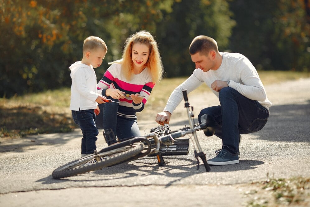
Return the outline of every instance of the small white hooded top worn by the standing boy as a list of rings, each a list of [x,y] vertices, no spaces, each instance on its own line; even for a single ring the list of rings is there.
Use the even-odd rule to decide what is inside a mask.
[[[71,70],[71,101],[70,110],[87,110],[97,108],[97,78],[92,66],[81,61],[73,63]]]

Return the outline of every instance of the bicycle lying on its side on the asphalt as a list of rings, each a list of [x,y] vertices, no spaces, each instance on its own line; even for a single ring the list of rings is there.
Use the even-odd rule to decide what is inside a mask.
[[[179,137],[191,134],[194,137],[195,149],[194,154],[197,159],[197,168],[199,169],[199,159],[203,161],[204,167],[207,172],[210,167],[206,161],[206,156],[201,150],[196,131],[203,130],[206,136],[214,134],[213,123],[214,120],[207,114],[201,117],[201,124],[194,124],[193,107],[188,102],[187,91],[183,91],[184,107],[187,110],[188,120],[190,126],[185,126],[176,131],[171,131],[168,124],[151,129],[151,133],[141,137],[130,137],[126,140],[121,140],[116,143],[101,149],[99,152],[95,151],[93,154],[82,157],[75,161],[69,162],[59,168],[55,169],[52,173],[53,178],[60,179],[69,176],[76,176],[78,174],[86,173],[102,169],[104,167],[114,166],[126,161],[131,161],[146,155],[155,154],[159,165],[164,165],[165,162],[161,153],[159,152],[161,146],[171,146],[177,141]],[[115,135],[111,129],[105,130],[104,135],[106,138],[114,138]],[[194,147],[195,147],[194,145]]]

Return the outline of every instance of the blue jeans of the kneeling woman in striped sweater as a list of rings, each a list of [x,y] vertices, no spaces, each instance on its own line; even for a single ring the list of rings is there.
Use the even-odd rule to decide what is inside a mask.
[[[117,99],[109,99],[118,101]],[[115,102],[99,104],[100,113],[96,117],[96,126],[99,129],[112,129],[117,138],[141,136],[137,120],[118,116],[119,104]]]

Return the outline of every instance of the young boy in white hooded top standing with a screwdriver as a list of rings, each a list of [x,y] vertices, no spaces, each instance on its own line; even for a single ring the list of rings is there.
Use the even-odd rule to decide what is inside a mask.
[[[72,118],[82,130],[81,156],[94,153],[98,129],[95,124],[99,114],[97,103],[105,103],[106,97],[97,94],[97,79],[94,68],[101,65],[108,48],[99,37],[90,36],[84,40],[82,61],[73,63],[71,70]],[[97,102],[97,103],[96,103]]]

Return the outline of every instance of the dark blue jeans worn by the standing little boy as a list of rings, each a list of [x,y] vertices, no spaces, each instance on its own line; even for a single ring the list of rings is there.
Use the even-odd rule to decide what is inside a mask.
[[[98,129],[96,127],[96,115],[94,109],[72,111],[74,123],[82,130],[81,154],[92,154],[96,150]]]

